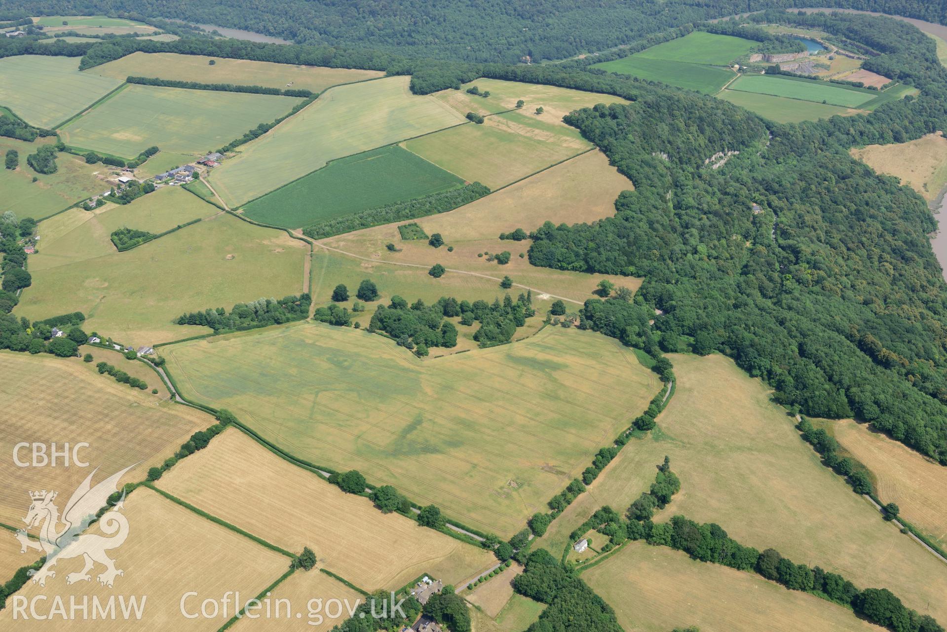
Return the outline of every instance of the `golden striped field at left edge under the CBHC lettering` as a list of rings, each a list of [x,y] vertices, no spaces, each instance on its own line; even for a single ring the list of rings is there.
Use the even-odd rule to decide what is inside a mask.
[[[93,350],[94,355],[99,351]],[[117,360],[104,356],[102,360],[124,368]],[[0,352],[0,374],[4,375],[0,408],[5,413],[0,449],[7,455],[0,462],[4,483],[0,485],[0,522],[9,525],[22,524],[30,490],[55,489],[68,500],[96,467],[99,477],[111,476],[138,462],[125,482],[140,481],[150,466],[168,458],[193,432],[214,423],[210,415],[100,376],[79,359],[4,351]],[[158,382],[153,373],[149,385],[152,382]],[[88,443],[79,456],[89,466],[64,467],[60,460],[57,467],[17,467],[11,455],[21,442],[45,443],[47,450],[51,442],[60,450],[66,442],[72,446]],[[29,450],[21,449],[21,461],[29,458]]]

